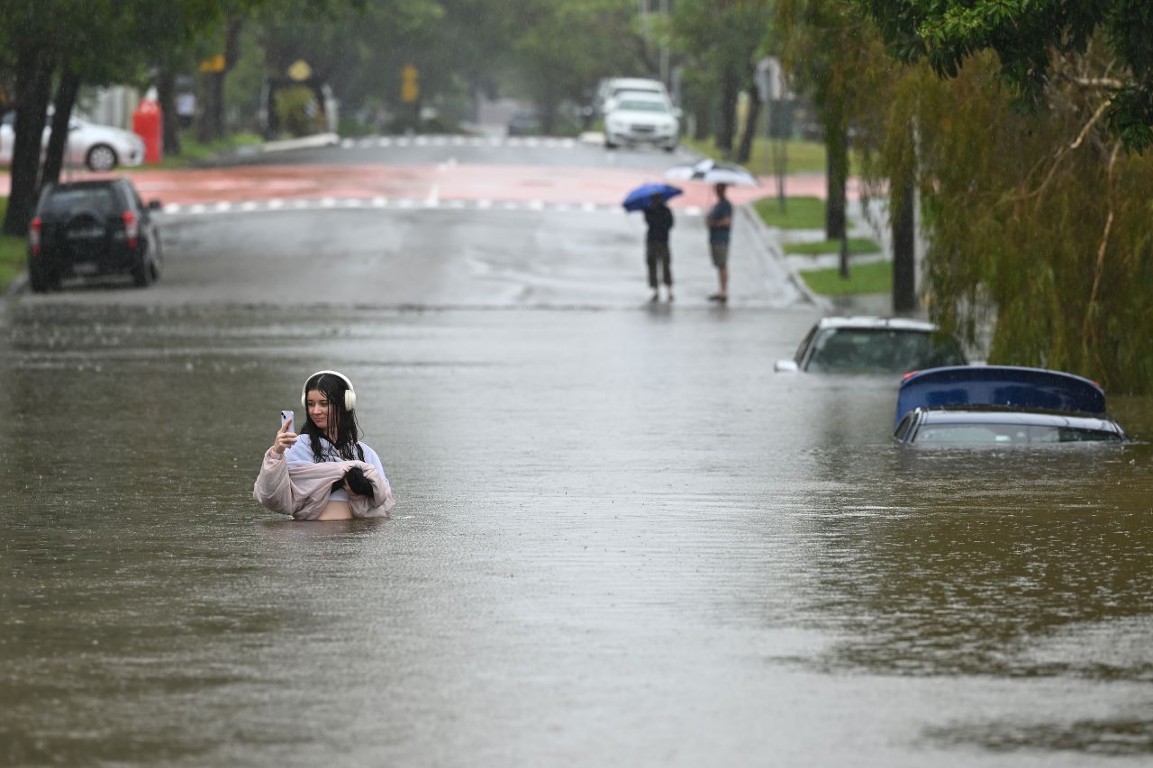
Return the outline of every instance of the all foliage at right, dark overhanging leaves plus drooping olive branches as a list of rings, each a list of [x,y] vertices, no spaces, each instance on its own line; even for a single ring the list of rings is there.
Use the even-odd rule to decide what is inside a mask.
[[[915,179],[930,317],[990,362],[1153,391],[1153,158],[1124,151],[1141,128],[1117,98],[1144,88],[1133,62],[1151,54],[1116,27],[1147,31],[1148,3],[822,2],[857,36],[867,189],[896,205],[894,180]]]

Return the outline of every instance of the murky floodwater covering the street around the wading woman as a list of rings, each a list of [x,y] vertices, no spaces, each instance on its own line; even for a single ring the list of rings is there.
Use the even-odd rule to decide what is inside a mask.
[[[0,311],[8,763],[1153,753],[1145,443],[898,449],[786,314]],[[251,502],[330,367],[390,520]]]

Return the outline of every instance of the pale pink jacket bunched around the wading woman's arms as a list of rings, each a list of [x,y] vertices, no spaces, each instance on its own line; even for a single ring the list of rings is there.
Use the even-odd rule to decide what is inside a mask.
[[[253,485],[253,498],[273,512],[292,515],[296,520],[316,520],[329,503],[332,483],[353,467],[361,472],[376,491],[372,498],[349,494],[354,518],[386,518],[397,505],[389,481],[371,464],[364,461],[322,461],[288,468],[284,454],[269,449],[264,453],[261,474]]]

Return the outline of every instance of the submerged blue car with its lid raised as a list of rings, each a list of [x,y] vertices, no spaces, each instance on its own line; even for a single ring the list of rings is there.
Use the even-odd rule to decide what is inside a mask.
[[[905,376],[894,437],[909,445],[1010,446],[1128,442],[1105,390],[1043,368],[952,366]]]

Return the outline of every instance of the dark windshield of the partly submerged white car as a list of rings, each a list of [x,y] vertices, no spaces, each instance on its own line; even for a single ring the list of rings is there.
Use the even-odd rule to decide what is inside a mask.
[[[964,364],[955,341],[928,331],[830,327],[816,338],[808,370],[903,374]]]

